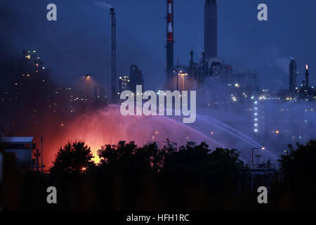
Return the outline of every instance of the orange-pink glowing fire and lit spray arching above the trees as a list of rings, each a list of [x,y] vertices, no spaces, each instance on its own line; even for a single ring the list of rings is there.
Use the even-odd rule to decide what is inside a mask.
[[[182,123],[165,117],[124,117],[116,106],[73,117],[71,121],[67,121],[67,126],[65,124],[58,131],[48,130],[44,134],[46,167],[51,166],[58,149],[65,146],[67,141],[84,141],[91,148],[93,161],[98,163],[100,147],[116,145],[119,141],[135,141],[138,146],[144,146],[147,141],[154,140],[159,141],[163,147],[166,137],[178,143],[178,146],[186,144],[187,136],[197,143],[205,139]],[[179,130],[181,131],[178,132]]]

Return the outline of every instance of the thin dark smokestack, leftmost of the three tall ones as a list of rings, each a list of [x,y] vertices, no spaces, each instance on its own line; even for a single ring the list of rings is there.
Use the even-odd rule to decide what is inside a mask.
[[[112,18],[112,69],[111,69],[111,94],[112,103],[117,101],[117,34],[114,8],[110,8]]]

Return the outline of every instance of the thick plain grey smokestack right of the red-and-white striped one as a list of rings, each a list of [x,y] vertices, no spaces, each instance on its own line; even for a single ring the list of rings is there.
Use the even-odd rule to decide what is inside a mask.
[[[206,60],[217,57],[216,0],[206,0],[204,5],[204,51]]]

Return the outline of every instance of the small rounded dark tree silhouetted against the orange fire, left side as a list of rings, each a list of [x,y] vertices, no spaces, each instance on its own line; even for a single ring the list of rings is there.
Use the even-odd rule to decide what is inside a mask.
[[[95,166],[90,147],[84,141],[68,142],[58,150],[51,173],[84,173],[90,167]]]

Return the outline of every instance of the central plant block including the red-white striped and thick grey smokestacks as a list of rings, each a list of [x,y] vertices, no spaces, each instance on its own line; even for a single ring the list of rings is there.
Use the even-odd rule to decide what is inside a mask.
[[[240,86],[240,91],[254,94],[260,89],[259,74],[256,71],[233,73],[232,65],[218,58],[218,19],[216,0],[205,0],[204,3],[204,51],[198,62],[194,61],[194,52],[190,52],[189,65],[173,65],[173,1],[167,0],[166,31],[166,89],[199,89],[206,80],[213,85]],[[172,72],[171,72],[172,70]],[[181,84],[184,82],[184,84]],[[210,84],[209,82],[208,85]]]

